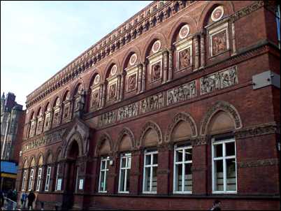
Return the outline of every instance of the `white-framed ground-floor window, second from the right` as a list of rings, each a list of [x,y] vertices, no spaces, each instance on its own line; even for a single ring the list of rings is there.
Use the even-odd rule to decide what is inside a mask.
[[[174,150],[173,192],[175,194],[192,193],[192,146],[175,145]]]

